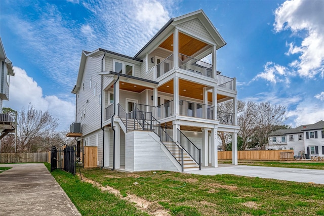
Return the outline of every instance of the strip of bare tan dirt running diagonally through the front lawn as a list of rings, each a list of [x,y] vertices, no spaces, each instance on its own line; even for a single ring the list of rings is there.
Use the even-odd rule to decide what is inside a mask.
[[[109,178],[109,177],[108,177]],[[167,216],[170,215],[170,212],[167,211],[163,206],[158,204],[157,202],[150,202],[146,199],[140,198],[136,195],[127,194],[126,197],[123,197],[120,192],[110,186],[102,186],[98,182],[95,182],[91,179],[87,179],[86,177],[82,177],[82,181],[88,182],[96,187],[98,187],[101,191],[107,191],[108,193],[114,194],[120,199],[126,200],[128,202],[135,203],[135,207],[138,209],[154,216]]]

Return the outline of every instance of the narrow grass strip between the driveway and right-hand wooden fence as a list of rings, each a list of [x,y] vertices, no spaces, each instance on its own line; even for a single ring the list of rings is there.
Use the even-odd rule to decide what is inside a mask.
[[[220,160],[219,163],[232,163],[231,160]],[[304,169],[324,169],[323,162],[313,161],[258,161],[258,160],[238,160],[240,165],[251,166],[273,166],[273,167],[285,167],[285,168],[304,168]]]

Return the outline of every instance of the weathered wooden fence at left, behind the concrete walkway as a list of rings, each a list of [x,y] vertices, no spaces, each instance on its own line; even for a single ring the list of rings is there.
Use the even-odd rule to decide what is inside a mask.
[[[29,163],[29,162],[47,162],[47,161],[48,161],[47,152],[1,153],[0,154],[0,163]]]

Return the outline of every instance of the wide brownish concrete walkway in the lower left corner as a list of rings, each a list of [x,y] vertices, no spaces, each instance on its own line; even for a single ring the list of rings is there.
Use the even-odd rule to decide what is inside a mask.
[[[43,163],[0,166],[0,215],[81,215]]]

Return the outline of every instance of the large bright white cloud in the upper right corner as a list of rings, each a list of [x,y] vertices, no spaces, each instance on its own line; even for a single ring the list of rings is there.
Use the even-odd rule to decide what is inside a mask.
[[[291,30],[303,38],[300,45],[289,43],[287,55],[297,54],[298,60],[290,66],[297,69],[300,76],[324,77],[324,1],[286,1],[274,12],[274,29],[279,32]],[[298,33],[306,32],[306,36]]]

